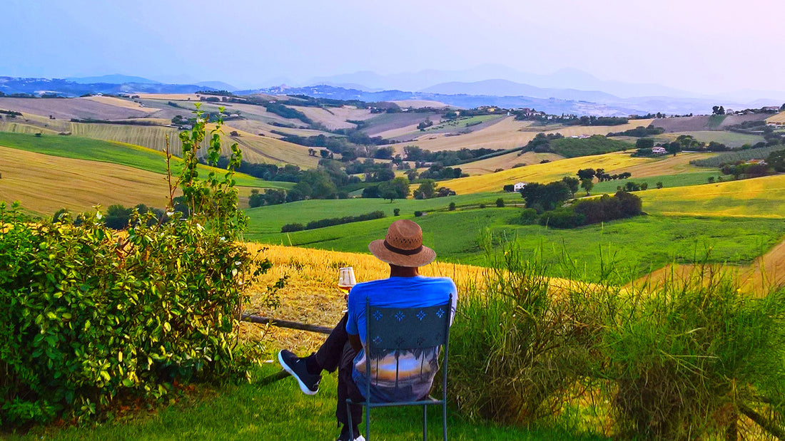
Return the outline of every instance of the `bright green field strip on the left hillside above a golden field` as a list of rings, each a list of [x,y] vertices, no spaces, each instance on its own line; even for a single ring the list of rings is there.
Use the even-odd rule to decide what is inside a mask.
[[[114,143],[98,139],[79,138],[76,136],[45,135],[40,138],[26,133],[0,132],[0,146],[25,150],[38,154],[48,154],[87,161],[109,162],[139,168],[148,172],[166,174],[166,157],[162,152],[142,146],[125,143]],[[180,160],[173,158],[173,172],[179,173]],[[200,167],[204,175],[218,168]],[[225,172],[225,170],[223,171]],[[273,183],[250,175],[237,174],[238,186],[287,189],[294,183]]]

